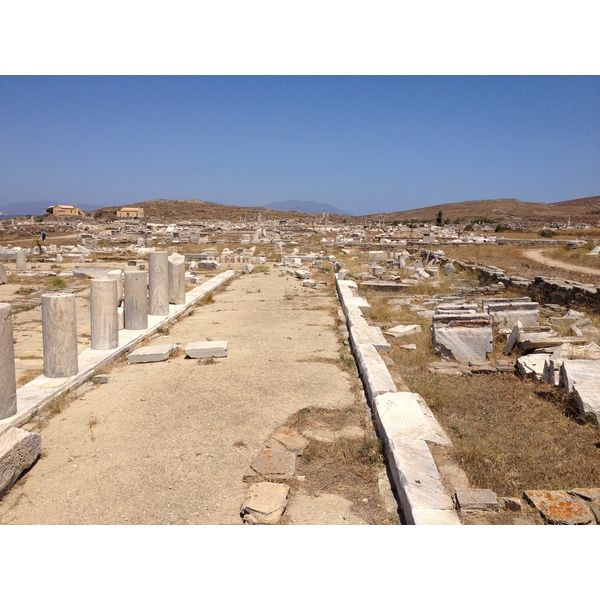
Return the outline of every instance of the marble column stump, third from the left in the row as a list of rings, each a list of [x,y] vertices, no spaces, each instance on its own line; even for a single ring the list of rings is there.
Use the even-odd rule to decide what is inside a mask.
[[[112,350],[119,345],[118,285],[113,277],[90,282],[90,322],[93,350]]]

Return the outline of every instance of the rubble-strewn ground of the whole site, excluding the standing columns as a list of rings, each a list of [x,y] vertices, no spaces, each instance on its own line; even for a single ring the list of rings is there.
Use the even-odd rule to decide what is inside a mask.
[[[44,223],[42,245],[39,224],[9,221],[0,523],[600,522],[600,259],[585,231],[542,244],[171,215]],[[119,339],[82,368],[92,282],[149,274],[152,311],[158,255],[183,257],[185,299],[132,331],[119,288]],[[42,296],[57,293],[75,305],[67,376],[44,357]],[[139,490],[146,506],[129,501]]]

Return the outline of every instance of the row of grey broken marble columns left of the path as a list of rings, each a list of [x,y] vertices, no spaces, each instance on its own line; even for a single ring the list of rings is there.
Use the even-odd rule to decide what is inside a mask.
[[[169,304],[185,303],[185,257],[148,255],[148,273],[123,273],[123,317],[128,330],[148,328],[148,315],[166,316]],[[93,350],[119,345],[120,273],[90,282],[90,333]],[[44,375],[72,377],[79,372],[75,296],[42,294]],[[0,419],[17,412],[11,305],[0,304]]]

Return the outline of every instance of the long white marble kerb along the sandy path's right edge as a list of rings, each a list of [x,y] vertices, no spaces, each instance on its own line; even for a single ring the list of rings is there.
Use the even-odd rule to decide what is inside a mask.
[[[364,327],[368,327],[361,307],[368,306],[368,303],[354,296],[356,283],[336,276],[336,289],[406,522],[415,525],[460,525],[452,497],[444,488],[427,446],[428,441],[449,445],[450,440],[425,402],[420,396],[417,398],[418,394],[397,391],[372,341],[359,341],[365,335]],[[353,335],[354,329],[358,331]]]

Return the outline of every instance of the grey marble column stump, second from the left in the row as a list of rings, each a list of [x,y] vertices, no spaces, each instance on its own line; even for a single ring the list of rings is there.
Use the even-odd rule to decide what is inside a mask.
[[[77,375],[77,318],[73,294],[42,294],[42,338],[44,375]]]

